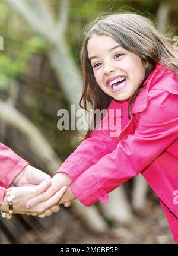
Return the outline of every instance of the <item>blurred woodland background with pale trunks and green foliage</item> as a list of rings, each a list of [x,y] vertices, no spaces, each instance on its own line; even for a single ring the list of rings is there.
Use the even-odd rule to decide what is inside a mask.
[[[84,27],[103,12],[131,8],[162,33],[178,34],[176,0],[1,0],[0,141],[50,175],[78,146],[59,131],[59,109],[78,106]],[[126,8],[128,7],[128,8]],[[0,219],[0,244],[174,244],[157,196],[141,175],[109,194],[109,204],[75,200],[45,219]]]

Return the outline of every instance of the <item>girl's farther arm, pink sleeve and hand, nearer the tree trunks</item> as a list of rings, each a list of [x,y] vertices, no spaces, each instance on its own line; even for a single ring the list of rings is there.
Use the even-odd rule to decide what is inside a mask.
[[[118,134],[120,132],[116,124],[119,128],[120,126],[123,128],[128,122],[127,116],[122,118],[122,123],[120,117],[123,114],[123,108],[127,109],[128,104],[129,102],[120,104],[115,102],[115,100],[110,103],[107,108],[109,115],[106,115],[101,121],[101,129],[93,131],[89,138],[82,141],[74,153],[63,162],[59,170],[55,173],[55,176],[51,179],[52,186],[48,191],[28,201],[27,207],[30,208],[42,201],[49,200],[51,195],[55,194],[59,188],[65,185],[69,186],[85,170],[116,148],[119,141]],[[115,110],[115,115],[113,115],[113,112],[110,112],[110,109]],[[74,199],[74,195],[71,195],[71,198]]]

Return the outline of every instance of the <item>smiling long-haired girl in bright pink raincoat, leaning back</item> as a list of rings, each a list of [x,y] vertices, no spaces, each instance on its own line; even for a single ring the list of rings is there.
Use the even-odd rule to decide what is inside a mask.
[[[92,109],[120,109],[121,131],[88,129],[82,143],[52,178],[52,187],[29,201],[48,200],[63,185],[60,203],[107,203],[108,193],[141,173],[157,194],[178,242],[178,56],[147,18],[131,13],[95,21],[81,50],[84,89]],[[101,127],[110,116],[105,116]],[[139,200],[139,198],[138,198]],[[117,202],[116,202],[117,203]]]

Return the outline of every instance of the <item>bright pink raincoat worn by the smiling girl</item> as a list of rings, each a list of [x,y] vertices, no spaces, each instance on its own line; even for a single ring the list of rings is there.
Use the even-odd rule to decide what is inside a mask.
[[[108,193],[141,173],[157,194],[178,242],[178,81],[170,69],[157,64],[148,75],[132,106],[112,100],[109,109],[120,109],[121,131],[97,129],[63,162],[57,172],[67,173],[75,197],[91,206],[107,203]]]

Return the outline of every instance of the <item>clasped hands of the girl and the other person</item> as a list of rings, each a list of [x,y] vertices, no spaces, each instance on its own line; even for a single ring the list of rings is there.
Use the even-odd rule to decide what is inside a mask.
[[[71,178],[62,172],[56,173],[51,178],[41,170],[27,165],[14,179],[13,184],[7,192],[15,195],[14,213],[18,214],[50,216],[60,210],[59,204],[68,207],[75,199],[68,187],[71,184]],[[6,198],[0,208],[8,212]]]

